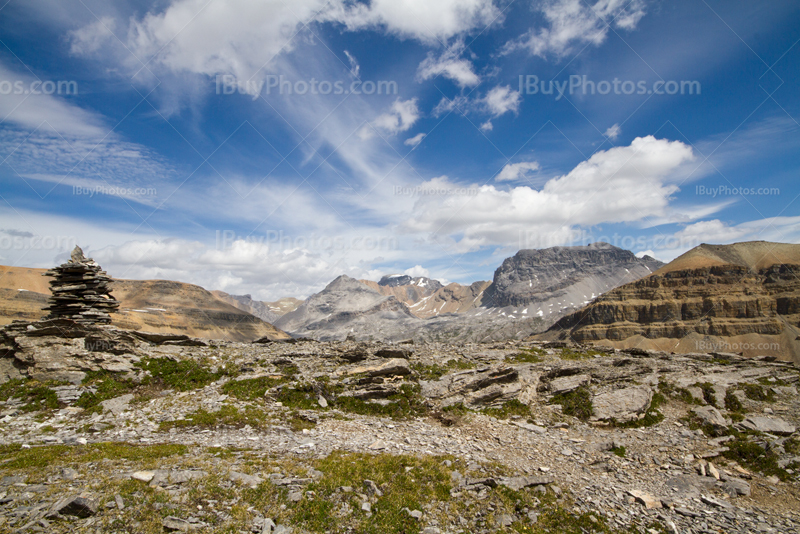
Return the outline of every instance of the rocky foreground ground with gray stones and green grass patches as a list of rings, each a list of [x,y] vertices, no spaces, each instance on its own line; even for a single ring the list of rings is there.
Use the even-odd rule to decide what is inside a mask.
[[[0,532],[800,531],[791,364],[31,326]]]

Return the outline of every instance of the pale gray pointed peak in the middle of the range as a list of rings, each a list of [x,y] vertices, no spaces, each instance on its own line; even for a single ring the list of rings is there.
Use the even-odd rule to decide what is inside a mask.
[[[358,330],[361,336],[382,337],[384,330],[402,330],[416,319],[394,296],[386,296],[354,278],[342,275],[310,296],[275,325],[287,332],[315,339],[343,339]]]

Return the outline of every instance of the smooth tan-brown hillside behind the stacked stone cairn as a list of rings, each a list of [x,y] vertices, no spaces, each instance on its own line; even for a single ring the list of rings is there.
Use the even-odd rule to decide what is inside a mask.
[[[0,268],[0,324],[35,320],[50,296],[45,269]],[[120,301],[112,324],[131,330],[185,334],[206,339],[252,341],[289,337],[271,324],[227,304],[200,286],[167,280],[114,280]]]

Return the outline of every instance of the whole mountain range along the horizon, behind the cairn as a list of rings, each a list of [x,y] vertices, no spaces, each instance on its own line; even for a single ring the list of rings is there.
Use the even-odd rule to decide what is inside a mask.
[[[800,362],[800,245],[700,245],[667,265],[607,243],[520,250],[491,281],[339,276],[275,302],[163,280],[115,280],[114,324],[205,338],[574,341]],[[0,324],[43,316],[44,269],[0,267]],[[273,326],[274,325],[274,326]]]

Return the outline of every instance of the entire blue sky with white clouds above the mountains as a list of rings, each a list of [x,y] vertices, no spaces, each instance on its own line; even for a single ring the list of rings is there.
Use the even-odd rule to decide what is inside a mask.
[[[800,242],[800,4],[9,0],[0,262],[264,300]]]

